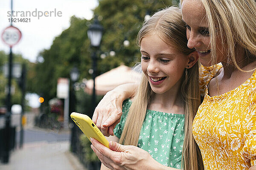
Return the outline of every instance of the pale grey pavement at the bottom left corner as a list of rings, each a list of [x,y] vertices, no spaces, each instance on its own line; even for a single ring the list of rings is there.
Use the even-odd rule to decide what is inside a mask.
[[[0,164],[0,170],[86,170],[69,147],[69,142],[27,143],[14,150],[9,164]]]

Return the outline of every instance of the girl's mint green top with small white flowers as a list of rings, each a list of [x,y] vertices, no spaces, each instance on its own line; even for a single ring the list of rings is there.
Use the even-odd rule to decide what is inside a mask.
[[[114,129],[114,135],[119,139],[130,106],[130,99],[123,102],[122,117]],[[184,115],[147,110],[138,147],[148,151],[160,164],[181,169],[183,141]]]

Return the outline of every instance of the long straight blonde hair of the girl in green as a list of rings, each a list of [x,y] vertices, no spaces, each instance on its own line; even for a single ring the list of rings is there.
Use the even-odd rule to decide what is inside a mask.
[[[170,47],[182,54],[188,55],[195,51],[187,47],[186,26],[182,21],[181,10],[177,7],[172,6],[158,11],[145,21],[137,36],[138,45],[140,46],[143,37],[150,34],[157,34]],[[185,105],[183,165],[185,170],[201,170],[204,169],[201,153],[192,135],[192,122],[200,105],[198,63],[185,70],[181,87]],[[128,112],[120,143],[137,146],[151,93],[151,87],[143,74]]]

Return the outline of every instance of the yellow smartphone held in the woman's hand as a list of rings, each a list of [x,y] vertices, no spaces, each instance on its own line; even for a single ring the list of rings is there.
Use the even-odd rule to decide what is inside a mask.
[[[93,123],[89,116],[81,113],[73,112],[71,113],[71,119],[76,123],[76,125],[82,130],[88,139],[97,139],[100,143],[104,144],[109,148],[109,142],[99,130],[99,128]]]

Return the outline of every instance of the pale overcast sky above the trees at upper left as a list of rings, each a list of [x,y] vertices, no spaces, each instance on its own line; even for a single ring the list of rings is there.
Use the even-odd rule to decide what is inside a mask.
[[[30,23],[13,23],[13,26],[20,29],[22,38],[13,47],[14,53],[22,54],[24,58],[35,62],[38,52],[52,45],[54,37],[61,34],[70,26],[70,17],[85,18],[90,20],[93,17],[92,9],[98,5],[97,0],[13,0],[13,11],[61,11],[61,17],[18,17],[30,18]],[[8,11],[11,11],[11,0],[0,0],[0,34],[10,26]],[[35,14],[35,13],[34,13]],[[53,15],[54,13],[52,13]],[[16,16],[16,13],[15,13]],[[9,54],[9,46],[0,39],[0,51]]]

